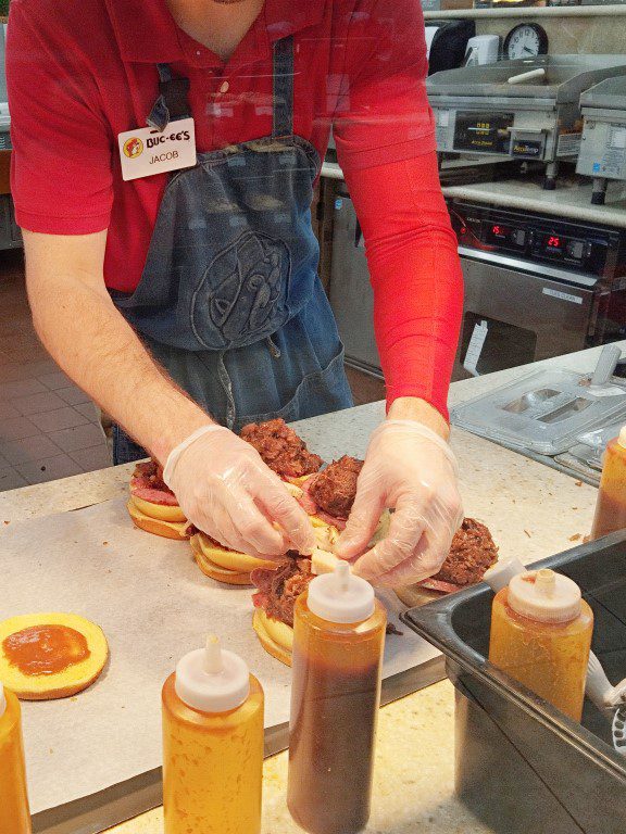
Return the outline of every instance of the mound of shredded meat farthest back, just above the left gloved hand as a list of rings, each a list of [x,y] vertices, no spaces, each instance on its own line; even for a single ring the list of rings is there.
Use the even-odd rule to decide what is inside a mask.
[[[280,476],[300,478],[322,466],[320,455],[309,452],[304,441],[283,419],[250,422],[241,429],[241,438]]]

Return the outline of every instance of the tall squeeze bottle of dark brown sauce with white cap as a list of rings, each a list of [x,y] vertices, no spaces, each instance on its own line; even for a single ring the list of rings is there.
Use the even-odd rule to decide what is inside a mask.
[[[387,614],[346,561],[296,602],[287,805],[310,834],[370,818]]]

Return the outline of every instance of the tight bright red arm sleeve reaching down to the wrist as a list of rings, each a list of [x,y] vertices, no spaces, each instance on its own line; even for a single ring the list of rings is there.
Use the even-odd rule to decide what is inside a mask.
[[[463,277],[436,154],[350,172],[347,180],[365,238],[387,405],[417,396],[448,419]]]

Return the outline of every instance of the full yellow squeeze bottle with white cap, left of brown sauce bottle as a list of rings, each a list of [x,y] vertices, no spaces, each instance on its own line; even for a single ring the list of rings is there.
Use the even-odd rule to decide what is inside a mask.
[[[163,686],[165,834],[259,834],[263,688],[210,636]]]

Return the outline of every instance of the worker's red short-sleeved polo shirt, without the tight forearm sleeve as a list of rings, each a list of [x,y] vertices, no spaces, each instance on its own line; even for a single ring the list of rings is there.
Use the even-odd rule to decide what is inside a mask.
[[[272,132],[272,42],[295,35],[295,131],[347,172],[424,153],[433,128],[418,0],[266,0],[233,58],[175,24],[165,0],[13,0],[8,76],[20,226],[109,228],[104,278],[139,282],[167,175],[124,182],[117,134],[146,126],[156,62],[190,80],[199,151]]]

